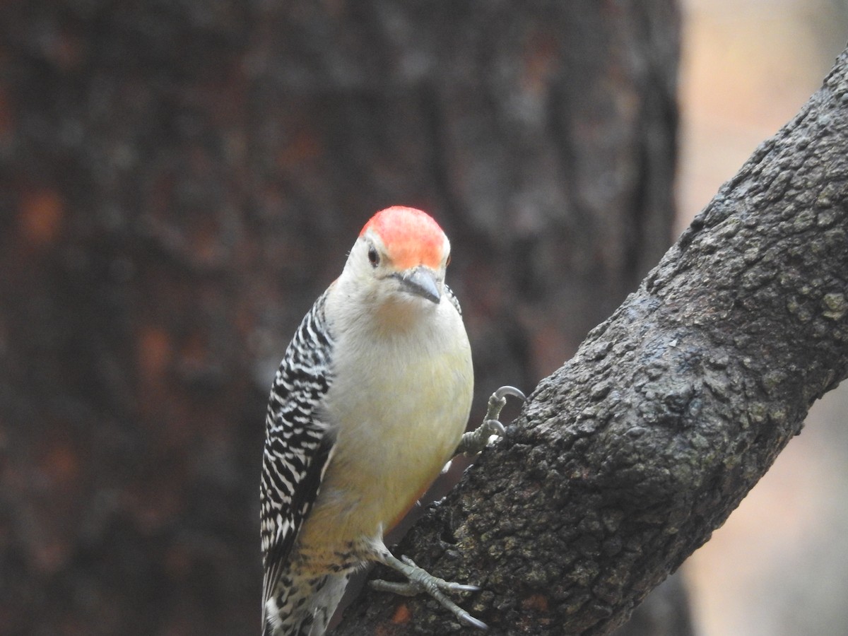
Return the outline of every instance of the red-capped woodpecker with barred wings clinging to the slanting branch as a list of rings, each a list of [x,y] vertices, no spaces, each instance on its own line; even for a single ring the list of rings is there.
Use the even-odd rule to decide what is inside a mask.
[[[383,544],[458,451],[503,427],[506,394],[466,433],[473,374],[460,305],[444,284],[450,244],[421,210],[374,215],[342,275],[304,317],[271,387],[260,488],[266,636],[320,636],[352,572],[377,561],[461,621],[444,594],[474,590],[432,577]],[[497,408],[492,410],[492,405]]]

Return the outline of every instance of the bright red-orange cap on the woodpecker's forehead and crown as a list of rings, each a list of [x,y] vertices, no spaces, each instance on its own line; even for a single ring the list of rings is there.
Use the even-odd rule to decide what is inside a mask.
[[[442,265],[447,241],[442,228],[427,212],[399,205],[382,209],[365,223],[360,237],[368,230],[382,239],[388,257],[401,270],[416,265],[438,269]]]

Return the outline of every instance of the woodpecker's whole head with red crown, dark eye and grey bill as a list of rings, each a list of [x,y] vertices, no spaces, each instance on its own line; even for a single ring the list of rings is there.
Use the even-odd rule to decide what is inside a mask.
[[[448,237],[430,215],[395,206],[365,223],[345,273],[377,305],[439,304],[449,259]]]

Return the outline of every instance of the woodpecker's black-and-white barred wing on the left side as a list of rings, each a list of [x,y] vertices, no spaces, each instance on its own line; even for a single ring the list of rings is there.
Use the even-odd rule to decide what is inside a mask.
[[[332,454],[331,436],[318,419],[321,399],[332,382],[332,338],[324,317],[325,298],[326,292],[301,321],[268,400],[259,493],[263,604],[274,594]]]

